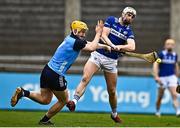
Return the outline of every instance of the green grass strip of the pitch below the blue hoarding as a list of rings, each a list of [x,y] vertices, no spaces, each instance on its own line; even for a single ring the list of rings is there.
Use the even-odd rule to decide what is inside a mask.
[[[39,119],[45,111],[0,111],[0,127],[38,127]],[[176,127],[180,126],[180,118],[174,115],[120,114],[122,124],[115,124],[109,113],[71,113],[60,112],[52,122],[58,127]]]

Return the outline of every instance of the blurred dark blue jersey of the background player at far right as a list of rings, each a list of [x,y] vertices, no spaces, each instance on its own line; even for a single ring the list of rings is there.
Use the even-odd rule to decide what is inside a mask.
[[[178,61],[178,56],[175,52],[163,50],[158,53],[162,63],[159,64],[159,76],[170,76],[175,74],[175,65]]]

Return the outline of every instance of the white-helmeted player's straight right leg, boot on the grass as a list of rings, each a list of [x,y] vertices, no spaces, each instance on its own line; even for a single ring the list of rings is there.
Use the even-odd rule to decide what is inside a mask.
[[[112,110],[111,118],[116,123],[121,123],[122,120],[119,118],[117,114],[117,95],[116,95],[117,73],[104,71],[104,76],[106,79],[107,91],[109,94],[109,103]]]

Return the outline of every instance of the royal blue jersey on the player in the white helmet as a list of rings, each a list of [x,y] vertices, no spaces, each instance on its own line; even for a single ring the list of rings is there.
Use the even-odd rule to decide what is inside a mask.
[[[125,45],[127,39],[134,39],[134,34],[130,26],[122,26],[119,23],[119,19],[114,16],[108,17],[104,23],[104,26],[110,28],[110,34],[108,35],[108,38],[114,45]],[[98,49],[97,52],[112,59],[118,59],[119,57],[119,53],[116,51],[111,51],[109,53],[106,52],[104,49]]]

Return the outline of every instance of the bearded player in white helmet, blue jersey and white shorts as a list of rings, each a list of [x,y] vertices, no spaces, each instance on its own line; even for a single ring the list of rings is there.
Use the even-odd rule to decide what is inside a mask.
[[[82,80],[76,88],[74,98],[67,104],[67,107],[70,111],[75,110],[76,103],[84,94],[86,86],[94,73],[99,69],[102,69],[107,84],[109,103],[112,110],[111,118],[116,123],[122,122],[117,114],[117,61],[119,57],[119,51],[135,50],[134,34],[130,27],[130,24],[133,22],[135,17],[136,10],[132,7],[126,7],[122,11],[120,18],[109,16],[106,19],[102,32],[103,42],[101,42],[107,43],[114,50],[108,53],[104,49],[98,49],[91,53],[91,57],[84,67]]]

